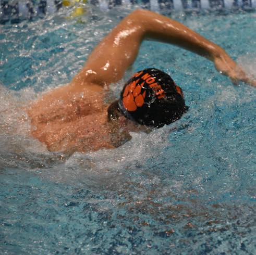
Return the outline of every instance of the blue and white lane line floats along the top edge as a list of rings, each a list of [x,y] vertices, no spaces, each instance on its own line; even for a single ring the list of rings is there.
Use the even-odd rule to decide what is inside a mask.
[[[94,5],[101,10],[120,5],[137,5],[154,11],[237,9],[254,10],[256,0],[0,0],[0,23],[18,23],[34,17],[53,14],[62,7],[76,5],[73,17],[84,14],[84,6]]]

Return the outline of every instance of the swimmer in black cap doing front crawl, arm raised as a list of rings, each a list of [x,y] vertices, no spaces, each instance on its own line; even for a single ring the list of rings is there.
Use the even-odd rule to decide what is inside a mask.
[[[133,75],[118,100],[106,103],[109,84],[123,78],[144,39],[190,50],[211,60],[233,83],[256,85],[220,46],[175,20],[138,9],[95,47],[68,85],[30,104],[32,136],[50,151],[88,152],[115,148],[131,138],[130,131],[148,132],[181,118],[187,111],[181,88],[168,74],[150,67]]]

